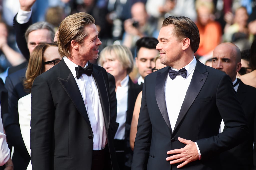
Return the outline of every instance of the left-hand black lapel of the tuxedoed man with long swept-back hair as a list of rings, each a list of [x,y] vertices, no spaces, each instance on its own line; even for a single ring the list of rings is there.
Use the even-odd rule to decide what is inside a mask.
[[[86,111],[86,107],[83,102],[83,97],[81,95],[77,82],[74,76],[72,75],[70,69],[68,68],[67,64],[64,62],[63,59],[56,66],[60,68],[60,77],[58,77],[58,80],[61,86],[65,89],[65,91],[67,92],[68,96],[76,106],[79,113],[84,117],[86,122],[91,126],[88,113]]]

